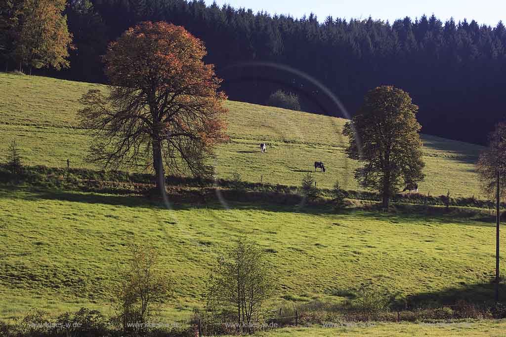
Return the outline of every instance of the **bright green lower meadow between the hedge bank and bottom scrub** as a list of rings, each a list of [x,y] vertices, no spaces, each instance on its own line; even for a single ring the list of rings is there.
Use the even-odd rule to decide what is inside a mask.
[[[495,230],[478,221],[244,204],[167,210],[140,197],[23,188],[0,189],[0,219],[8,224],[0,233],[4,318],[35,303],[52,312],[81,303],[107,311],[132,241],[154,244],[175,280],[167,315],[201,306],[208,272],[240,236],[254,239],[276,268],[272,305],[282,297],[339,300],[333,289],[353,291],[367,280],[425,299],[491,296],[483,283]]]

